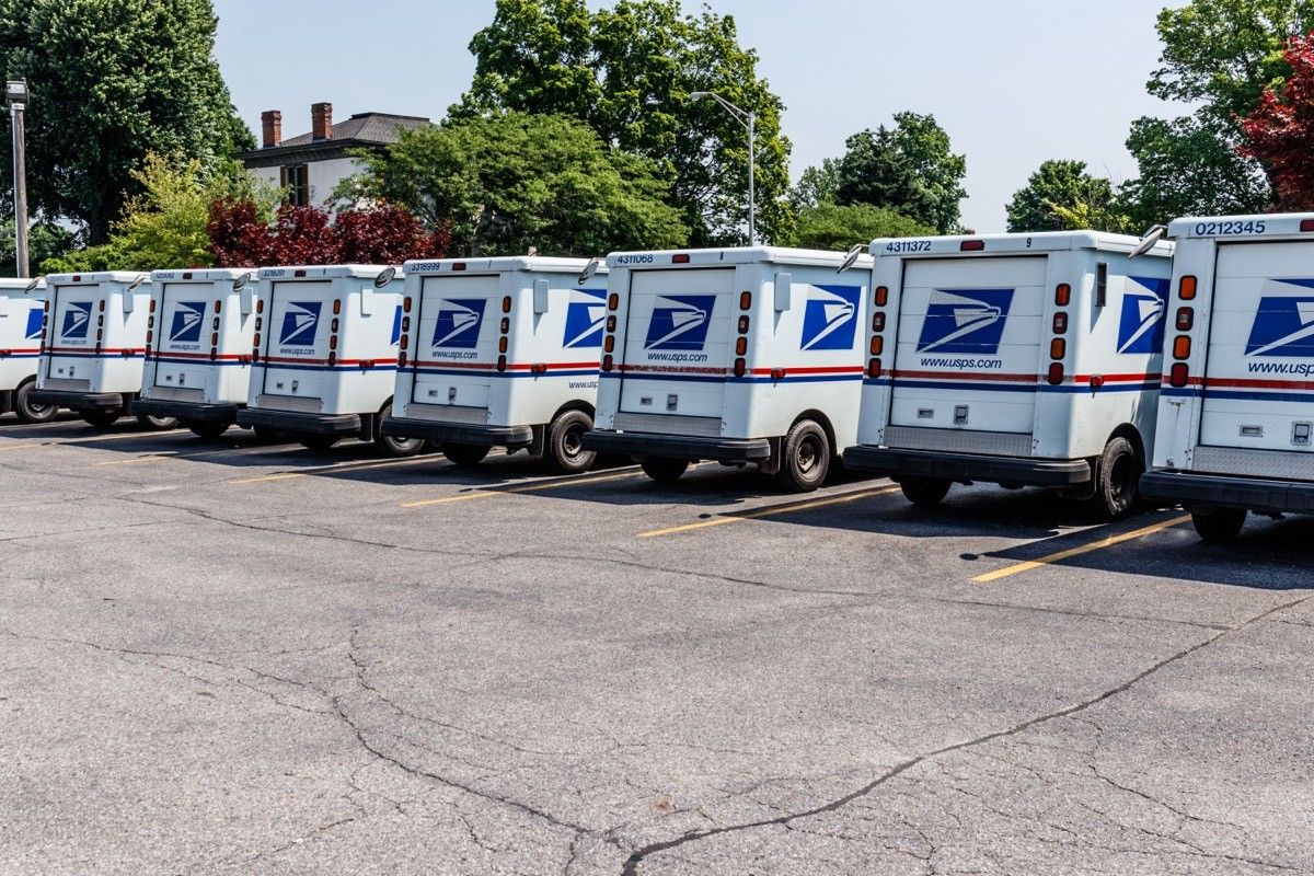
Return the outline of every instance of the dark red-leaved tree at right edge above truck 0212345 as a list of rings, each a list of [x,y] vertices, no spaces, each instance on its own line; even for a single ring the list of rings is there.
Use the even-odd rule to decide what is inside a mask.
[[[1277,194],[1279,210],[1314,209],[1314,34],[1293,37],[1282,53],[1292,75],[1268,88],[1259,108],[1242,120],[1242,155],[1259,160]]]

